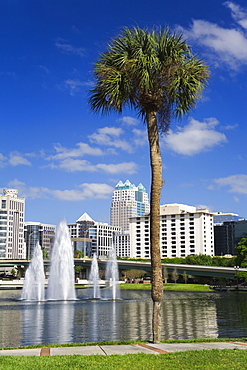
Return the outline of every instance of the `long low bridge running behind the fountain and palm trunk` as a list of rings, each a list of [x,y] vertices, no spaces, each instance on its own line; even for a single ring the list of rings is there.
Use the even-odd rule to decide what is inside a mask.
[[[91,267],[91,258],[75,258],[74,264],[90,270]],[[29,265],[29,260],[0,260],[0,270],[9,267],[27,267]],[[107,260],[102,259],[98,260],[100,268],[106,267]],[[45,260],[44,266],[49,266],[50,261]],[[120,271],[124,270],[143,270],[146,272],[151,272],[151,263],[150,262],[140,262],[140,261],[129,261],[129,260],[118,260],[118,267]],[[187,275],[200,275],[200,276],[212,276],[212,277],[224,277],[224,278],[233,278],[237,271],[247,272],[246,268],[234,268],[234,267],[217,267],[217,266],[199,266],[199,265],[178,265],[171,263],[162,263],[162,267],[167,270],[168,273],[172,273],[174,270],[178,274],[187,274]]]

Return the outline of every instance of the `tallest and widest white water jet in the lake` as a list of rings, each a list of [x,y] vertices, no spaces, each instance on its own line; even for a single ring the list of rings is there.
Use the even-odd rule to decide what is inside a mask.
[[[76,299],[74,280],[74,258],[71,238],[66,222],[61,221],[57,227],[52,248],[47,299]]]

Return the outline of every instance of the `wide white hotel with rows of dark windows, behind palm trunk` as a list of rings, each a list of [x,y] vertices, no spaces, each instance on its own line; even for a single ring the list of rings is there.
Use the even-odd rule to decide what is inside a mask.
[[[161,258],[214,255],[213,213],[184,204],[160,207]],[[151,258],[149,215],[130,218],[130,257]]]

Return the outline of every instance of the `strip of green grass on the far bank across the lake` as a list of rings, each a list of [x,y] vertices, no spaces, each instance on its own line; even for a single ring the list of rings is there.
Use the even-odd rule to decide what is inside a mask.
[[[183,292],[213,292],[208,285],[203,284],[163,284],[164,290],[174,290]],[[120,284],[121,289],[150,290],[151,284]]]

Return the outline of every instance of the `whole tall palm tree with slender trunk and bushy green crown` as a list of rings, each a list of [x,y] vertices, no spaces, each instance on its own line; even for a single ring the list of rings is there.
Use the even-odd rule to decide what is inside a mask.
[[[122,112],[134,108],[147,124],[152,172],[150,248],[152,265],[153,341],[161,337],[163,296],[160,256],[160,197],[163,185],[159,134],[172,117],[195,107],[209,73],[193,55],[182,34],[164,30],[125,28],[100,55],[94,69],[95,87],[89,103],[94,112]]]

